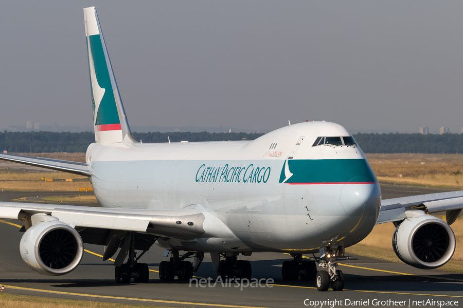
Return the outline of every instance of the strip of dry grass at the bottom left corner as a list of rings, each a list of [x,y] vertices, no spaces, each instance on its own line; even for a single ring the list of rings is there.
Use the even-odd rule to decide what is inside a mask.
[[[2,308],[164,308],[165,306],[127,305],[87,300],[60,299],[40,296],[15,295],[0,292]]]

